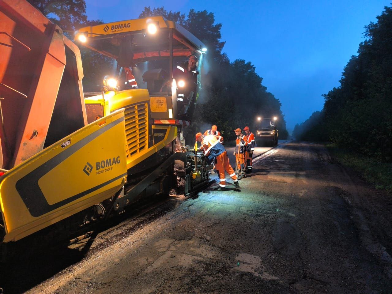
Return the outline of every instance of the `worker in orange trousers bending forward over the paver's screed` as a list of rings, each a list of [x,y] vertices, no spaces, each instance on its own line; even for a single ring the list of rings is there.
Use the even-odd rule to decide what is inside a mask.
[[[240,183],[238,183],[236,172],[234,172],[229,163],[229,157],[227,157],[225,147],[221,144],[223,138],[221,136],[214,135],[203,136],[203,134],[197,133],[196,141],[201,142],[199,150],[204,151],[204,155],[207,160],[209,162],[215,162],[220,178],[220,190],[224,191],[226,189],[225,171],[227,171],[229,176],[234,180],[234,185],[238,187]]]

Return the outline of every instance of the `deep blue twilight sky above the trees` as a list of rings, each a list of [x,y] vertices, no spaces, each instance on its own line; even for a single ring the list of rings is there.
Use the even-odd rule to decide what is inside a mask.
[[[145,6],[213,12],[222,24],[223,52],[231,61],[251,61],[263,85],[282,103],[292,131],[339,85],[343,67],[356,54],[364,26],[376,22],[391,0],[217,1],[86,0],[90,19],[137,18]],[[273,115],[273,114],[271,114]]]

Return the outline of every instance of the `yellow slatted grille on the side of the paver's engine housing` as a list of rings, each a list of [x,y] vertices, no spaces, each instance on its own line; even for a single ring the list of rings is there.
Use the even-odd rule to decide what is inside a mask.
[[[147,103],[125,107],[125,135],[127,136],[127,160],[147,148]]]

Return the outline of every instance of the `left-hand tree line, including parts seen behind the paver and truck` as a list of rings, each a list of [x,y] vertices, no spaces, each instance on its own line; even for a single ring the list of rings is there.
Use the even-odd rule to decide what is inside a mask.
[[[75,30],[85,25],[103,23],[89,20],[85,15],[84,0],[29,0],[46,16],[52,16],[62,29]],[[68,11],[68,13],[64,13]],[[172,20],[199,38],[208,48],[204,70],[201,73],[203,89],[196,105],[191,126],[184,129],[187,143],[194,142],[196,132],[204,132],[212,124],[218,126],[226,140],[235,137],[234,129],[256,125],[256,118],[277,116],[279,138],[286,138],[286,122],[281,103],[267,91],[263,78],[256,73],[255,66],[243,59],[230,61],[222,53],[225,42],[221,40],[222,24],[216,24],[214,13],[191,9],[187,15],[180,11],[166,11],[164,7],[145,7],[140,18],[162,15]],[[102,77],[111,72],[111,61],[100,54],[81,47],[83,63],[83,87],[100,85]],[[252,130],[255,131],[255,130]]]

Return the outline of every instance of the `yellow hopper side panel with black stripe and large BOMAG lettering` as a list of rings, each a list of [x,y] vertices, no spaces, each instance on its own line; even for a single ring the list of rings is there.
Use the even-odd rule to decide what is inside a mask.
[[[90,123],[6,172],[0,205],[16,241],[115,194],[125,182],[124,109]]]

